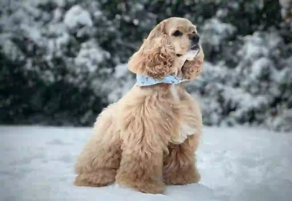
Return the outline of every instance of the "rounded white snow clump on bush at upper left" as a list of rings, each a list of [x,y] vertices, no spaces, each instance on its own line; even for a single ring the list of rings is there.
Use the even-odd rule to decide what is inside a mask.
[[[84,10],[81,6],[75,5],[67,11],[64,18],[64,23],[69,28],[74,28],[77,25],[87,25],[92,26],[92,20],[90,13]]]

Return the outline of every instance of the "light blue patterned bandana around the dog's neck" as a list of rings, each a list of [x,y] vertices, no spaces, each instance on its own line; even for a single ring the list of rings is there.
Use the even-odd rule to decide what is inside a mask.
[[[175,77],[173,75],[168,75],[161,79],[154,79],[153,77],[145,76],[145,75],[137,75],[136,77],[138,86],[149,86],[158,83],[167,83],[167,84],[179,84],[181,82],[187,81],[187,79],[183,79],[182,77]]]

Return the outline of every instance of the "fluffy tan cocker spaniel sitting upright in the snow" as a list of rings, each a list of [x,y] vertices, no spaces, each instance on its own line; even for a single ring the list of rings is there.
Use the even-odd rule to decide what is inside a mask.
[[[129,60],[136,74],[159,79],[178,74],[192,80],[201,73],[204,54],[196,27],[169,18],[149,34]],[[182,61],[190,50],[194,60]],[[98,116],[94,135],[77,159],[77,186],[116,182],[144,193],[162,193],[165,184],[196,183],[195,150],[201,135],[199,105],[183,84],[135,85]]]

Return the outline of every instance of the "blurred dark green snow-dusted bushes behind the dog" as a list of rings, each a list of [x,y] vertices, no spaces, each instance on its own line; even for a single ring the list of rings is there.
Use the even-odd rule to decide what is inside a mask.
[[[128,58],[161,20],[197,25],[205,125],[292,130],[290,0],[1,0],[0,124],[91,126],[135,83]]]

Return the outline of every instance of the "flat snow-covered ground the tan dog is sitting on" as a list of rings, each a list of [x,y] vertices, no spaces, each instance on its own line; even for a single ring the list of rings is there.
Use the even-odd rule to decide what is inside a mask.
[[[247,127],[206,127],[197,152],[198,184],[165,195],[119,186],[72,185],[88,128],[0,127],[0,200],[292,200],[292,134]]]

